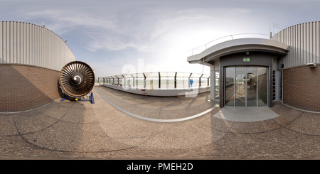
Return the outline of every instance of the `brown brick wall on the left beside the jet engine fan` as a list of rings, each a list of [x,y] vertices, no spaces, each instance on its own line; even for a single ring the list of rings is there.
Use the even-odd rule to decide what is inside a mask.
[[[0,112],[41,107],[60,97],[59,72],[28,65],[0,65]]]

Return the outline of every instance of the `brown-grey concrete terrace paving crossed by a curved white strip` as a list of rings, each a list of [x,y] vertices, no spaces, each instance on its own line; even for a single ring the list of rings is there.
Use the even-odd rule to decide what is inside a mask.
[[[320,157],[319,113],[275,102],[270,108],[275,115],[245,121],[219,118],[222,109],[208,101],[208,92],[144,97],[95,87],[93,93],[95,104],[58,99],[31,111],[0,114],[0,158]]]

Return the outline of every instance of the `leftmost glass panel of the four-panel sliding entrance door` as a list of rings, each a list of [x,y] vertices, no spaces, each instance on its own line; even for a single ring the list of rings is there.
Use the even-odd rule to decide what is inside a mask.
[[[225,105],[233,107],[235,92],[235,67],[225,67]]]

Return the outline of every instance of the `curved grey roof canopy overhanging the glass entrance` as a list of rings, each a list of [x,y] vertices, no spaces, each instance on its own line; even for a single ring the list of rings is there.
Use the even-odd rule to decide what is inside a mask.
[[[265,38],[239,38],[213,45],[212,47],[204,50],[202,53],[188,57],[188,62],[211,65],[208,62],[219,60],[219,58],[224,55],[247,51],[259,51],[275,53],[278,55],[287,55],[287,52],[289,51],[289,45]]]

